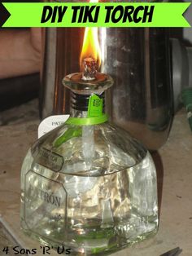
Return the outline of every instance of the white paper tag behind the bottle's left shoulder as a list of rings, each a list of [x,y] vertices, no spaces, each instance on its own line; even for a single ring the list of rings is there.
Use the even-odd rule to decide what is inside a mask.
[[[38,126],[38,139],[45,135],[50,130],[54,130],[56,127],[61,126],[65,121],[68,120],[69,115],[55,115],[46,117],[43,121],[41,121]]]

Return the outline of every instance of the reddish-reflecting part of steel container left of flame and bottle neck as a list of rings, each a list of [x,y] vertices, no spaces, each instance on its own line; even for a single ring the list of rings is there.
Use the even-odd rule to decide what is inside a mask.
[[[68,73],[79,71],[82,29],[47,28],[44,34],[44,64],[41,83],[41,118],[69,113],[69,91],[62,80]]]

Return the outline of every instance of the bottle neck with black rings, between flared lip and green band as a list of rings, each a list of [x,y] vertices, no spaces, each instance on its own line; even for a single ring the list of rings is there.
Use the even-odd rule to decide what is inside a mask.
[[[98,99],[91,100],[91,97],[96,95]],[[93,98],[92,98],[93,99]],[[98,112],[94,112],[94,115],[91,114],[91,105],[97,105],[101,103],[102,100],[102,109],[100,109],[100,114],[103,114],[104,109],[104,99],[105,93],[98,95],[97,93],[92,95],[81,95],[71,92],[71,117],[78,117],[78,118],[86,118],[86,117],[98,117]],[[98,100],[98,101],[97,101]],[[94,106],[94,108],[95,108]],[[93,111],[92,111],[93,113]]]

